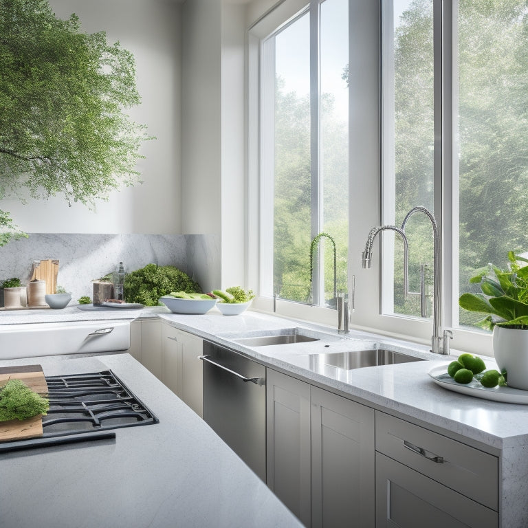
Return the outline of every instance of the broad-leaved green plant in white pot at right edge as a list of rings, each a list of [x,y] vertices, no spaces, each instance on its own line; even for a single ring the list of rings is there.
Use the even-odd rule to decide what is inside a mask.
[[[507,270],[489,264],[470,283],[481,293],[462,294],[459,305],[486,314],[478,325],[493,330],[493,353],[507,384],[528,390],[528,259],[508,253]]]

